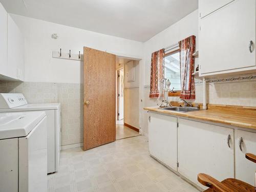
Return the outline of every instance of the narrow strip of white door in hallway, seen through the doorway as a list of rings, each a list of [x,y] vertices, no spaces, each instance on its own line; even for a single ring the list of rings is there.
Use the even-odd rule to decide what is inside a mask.
[[[118,70],[118,120],[123,119],[123,71],[123,68]]]

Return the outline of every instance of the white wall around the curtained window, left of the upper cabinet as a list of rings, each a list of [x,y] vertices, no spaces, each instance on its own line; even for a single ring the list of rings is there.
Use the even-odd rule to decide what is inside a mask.
[[[159,49],[177,44],[180,40],[189,37],[191,35],[196,36],[196,44],[198,42],[198,10],[188,14],[179,22],[168,27],[164,31],[158,33],[151,39],[144,42],[143,51],[143,71],[144,71],[144,106],[156,106],[156,99],[149,98],[150,93],[150,69],[151,69],[151,54]],[[197,61],[196,61],[197,62]],[[197,65],[197,63],[195,63]],[[195,65],[195,66],[196,66]],[[147,136],[147,112],[143,111],[143,123],[142,132]]]

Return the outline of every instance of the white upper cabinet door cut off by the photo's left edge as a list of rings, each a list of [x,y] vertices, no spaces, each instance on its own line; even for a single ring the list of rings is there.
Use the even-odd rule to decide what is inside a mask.
[[[7,12],[0,3],[0,74],[7,75]]]

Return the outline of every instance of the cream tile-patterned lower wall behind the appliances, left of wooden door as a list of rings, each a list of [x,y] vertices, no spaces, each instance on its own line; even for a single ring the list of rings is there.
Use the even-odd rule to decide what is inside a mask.
[[[61,145],[83,141],[83,84],[0,81],[0,93],[23,93],[28,103],[61,103]]]

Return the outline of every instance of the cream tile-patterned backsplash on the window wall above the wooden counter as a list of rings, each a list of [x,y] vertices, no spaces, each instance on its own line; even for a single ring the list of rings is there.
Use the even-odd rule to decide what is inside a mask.
[[[196,99],[191,102],[203,102],[203,83],[196,80]],[[156,98],[149,98],[150,86],[144,87],[144,106],[156,106]],[[206,83],[207,103],[242,106],[256,106],[255,79],[241,81],[220,81]],[[169,97],[169,100],[180,101],[179,97]],[[160,103],[160,102],[159,102]],[[143,134],[147,136],[148,114],[144,111]]]

